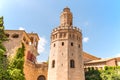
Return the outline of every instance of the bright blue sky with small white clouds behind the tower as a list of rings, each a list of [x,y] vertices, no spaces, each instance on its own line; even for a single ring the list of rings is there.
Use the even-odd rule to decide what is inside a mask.
[[[120,56],[120,0],[0,0],[5,29],[25,29],[40,36],[38,61],[46,61],[50,33],[63,8],[82,29],[83,50],[101,58]]]

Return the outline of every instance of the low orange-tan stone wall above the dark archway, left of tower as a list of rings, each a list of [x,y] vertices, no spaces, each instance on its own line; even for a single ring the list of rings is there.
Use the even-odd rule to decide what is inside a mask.
[[[39,76],[44,76],[47,80],[48,64],[36,64],[26,61],[24,64],[24,73],[26,80],[38,80]]]

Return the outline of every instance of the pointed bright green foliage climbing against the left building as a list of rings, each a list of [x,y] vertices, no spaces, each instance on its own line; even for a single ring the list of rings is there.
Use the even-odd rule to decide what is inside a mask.
[[[24,51],[25,47],[24,44],[22,43],[22,47],[18,48],[16,55],[10,61],[8,71],[11,80],[25,80],[23,72]]]

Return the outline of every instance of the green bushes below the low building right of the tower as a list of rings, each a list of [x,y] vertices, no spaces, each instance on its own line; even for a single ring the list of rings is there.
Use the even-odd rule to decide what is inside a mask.
[[[85,72],[86,80],[120,80],[120,66],[105,66],[104,70],[93,70]]]

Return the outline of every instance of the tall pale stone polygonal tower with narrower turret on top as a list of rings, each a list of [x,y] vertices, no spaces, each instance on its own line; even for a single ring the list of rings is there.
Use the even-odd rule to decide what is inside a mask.
[[[51,33],[48,80],[85,80],[82,60],[82,33],[73,27],[68,7],[60,16],[60,26]]]

